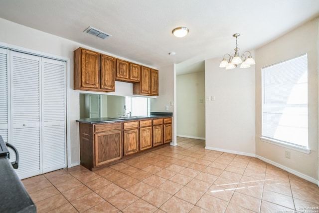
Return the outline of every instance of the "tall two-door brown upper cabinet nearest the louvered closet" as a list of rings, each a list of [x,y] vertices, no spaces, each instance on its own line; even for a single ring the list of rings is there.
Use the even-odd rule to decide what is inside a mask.
[[[115,58],[78,48],[74,51],[74,89],[115,91]]]

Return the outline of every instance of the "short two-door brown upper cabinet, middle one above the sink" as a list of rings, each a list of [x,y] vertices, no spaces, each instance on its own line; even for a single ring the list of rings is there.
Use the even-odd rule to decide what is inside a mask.
[[[116,78],[117,81],[140,82],[141,66],[121,59],[116,59]]]

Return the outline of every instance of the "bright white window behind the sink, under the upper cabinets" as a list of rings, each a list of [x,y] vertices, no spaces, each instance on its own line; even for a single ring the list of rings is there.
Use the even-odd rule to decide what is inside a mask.
[[[147,116],[150,111],[149,99],[150,98],[125,97],[127,111],[130,111],[132,116]]]

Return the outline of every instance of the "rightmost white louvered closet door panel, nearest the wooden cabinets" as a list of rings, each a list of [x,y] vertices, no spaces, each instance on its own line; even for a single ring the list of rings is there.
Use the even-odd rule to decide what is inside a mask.
[[[43,173],[66,167],[65,61],[42,59]]]

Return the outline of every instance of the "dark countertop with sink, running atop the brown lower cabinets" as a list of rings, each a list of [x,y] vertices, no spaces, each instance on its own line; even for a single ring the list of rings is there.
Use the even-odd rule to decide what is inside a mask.
[[[162,117],[172,117],[172,116],[173,116],[173,113],[171,113],[171,112],[151,112],[151,115],[149,115],[149,116],[132,116],[131,118],[125,118],[125,119],[119,119],[119,118],[115,118],[115,117],[82,118],[82,119],[76,120],[76,122],[86,123],[86,124],[99,124],[99,123],[142,120],[142,119],[162,118]]]

